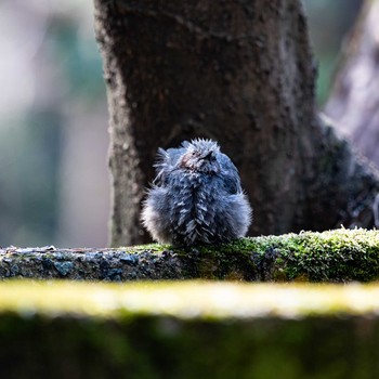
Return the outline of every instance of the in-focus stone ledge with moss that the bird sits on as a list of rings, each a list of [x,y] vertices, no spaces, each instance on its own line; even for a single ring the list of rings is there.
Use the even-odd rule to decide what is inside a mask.
[[[379,279],[379,231],[336,230],[171,247],[0,249],[0,278],[77,280],[226,279],[373,282]]]

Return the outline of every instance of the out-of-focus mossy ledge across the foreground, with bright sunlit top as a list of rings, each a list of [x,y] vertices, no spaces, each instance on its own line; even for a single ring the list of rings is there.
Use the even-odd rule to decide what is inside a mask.
[[[379,285],[0,284],[4,378],[379,376]]]

